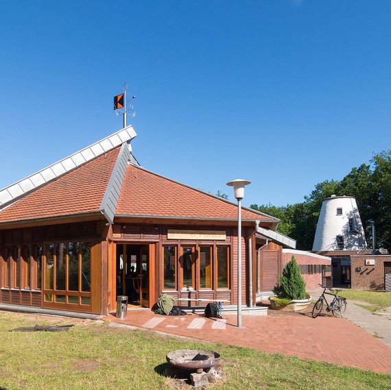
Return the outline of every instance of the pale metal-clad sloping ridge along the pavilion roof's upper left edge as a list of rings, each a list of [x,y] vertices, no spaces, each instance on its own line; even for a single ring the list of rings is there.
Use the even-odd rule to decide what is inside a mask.
[[[135,136],[137,136],[137,134],[132,125],[123,127],[123,129],[110,134],[110,136],[103,138],[101,141],[97,141],[80,151],[76,151],[68,157],[62,158],[62,160],[49,165],[49,167],[41,169],[14,184],[6,186],[0,190],[0,210],[37,188],[44,186],[48,182],[60,178],[60,176],[80,167],[82,164],[102,156],[102,154],[115,149],[115,147],[118,147],[122,143],[132,140]]]

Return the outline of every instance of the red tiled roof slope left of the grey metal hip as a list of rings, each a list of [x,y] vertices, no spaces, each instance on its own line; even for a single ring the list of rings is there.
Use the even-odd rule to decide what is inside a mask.
[[[0,211],[0,223],[98,212],[119,149],[108,151]]]

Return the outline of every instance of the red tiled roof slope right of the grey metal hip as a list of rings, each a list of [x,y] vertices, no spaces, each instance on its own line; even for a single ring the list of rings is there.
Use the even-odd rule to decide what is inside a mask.
[[[115,214],[237,219],[237,206],[128,165]],[[249,210],[242,210],[241,217],[276,221]]]

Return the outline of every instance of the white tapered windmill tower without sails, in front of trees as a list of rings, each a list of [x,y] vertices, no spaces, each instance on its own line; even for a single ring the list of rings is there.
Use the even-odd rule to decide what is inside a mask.
[[[366,248],[356,199],[335,195],[324,199],[313,240],[313,252]]]

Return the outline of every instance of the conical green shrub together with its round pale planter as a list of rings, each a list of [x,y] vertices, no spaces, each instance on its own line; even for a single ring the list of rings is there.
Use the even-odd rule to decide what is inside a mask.
[[[272,308],[277,310],[303,310],[311,303],[311,296],[305,291],[305,281],[294,256],[283,269],[283,275],[277,280],[273,293],[275,295],[269,297],[269,300]]]

